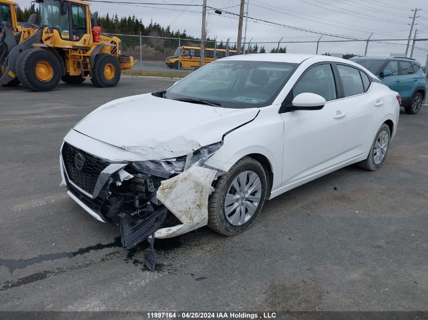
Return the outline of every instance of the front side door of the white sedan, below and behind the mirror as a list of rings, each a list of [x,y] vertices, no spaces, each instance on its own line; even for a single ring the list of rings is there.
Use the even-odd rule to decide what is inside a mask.
[[[282,186],[298,185],[341,162],[346,107],[339,97],[330,63],[309,67],[290,90],[281,108],[284,121]],[[314,93],[326,99],[321,110],[287,112],[294,97]],[[299,183],[300,182],[300,183]]]

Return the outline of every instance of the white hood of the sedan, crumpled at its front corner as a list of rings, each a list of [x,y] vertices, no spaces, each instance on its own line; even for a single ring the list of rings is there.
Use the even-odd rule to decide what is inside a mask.
[[[224,133],[252,120],[257,112],[144,94],[108,102],[73,129],[147,160],[166,159],[221,141]]]

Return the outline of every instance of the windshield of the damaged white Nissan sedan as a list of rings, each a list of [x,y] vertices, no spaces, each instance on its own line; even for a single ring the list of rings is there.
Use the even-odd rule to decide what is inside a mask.
[[[298,64],[218,60],[189,74],[165,93],[167,99],[201,99],[225,108],[271,104]]]

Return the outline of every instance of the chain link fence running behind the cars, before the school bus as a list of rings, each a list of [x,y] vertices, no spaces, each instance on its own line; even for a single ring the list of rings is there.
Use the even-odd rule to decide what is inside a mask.
[[[191,38],[169,38],[143,36],[135,34],[112,34],[122,40],[122,54],[134,57],[134,71],[145,71],[145,74],[165,71],[187,74],[195,68],[170,69],[165,61],[173,56],[180,46],[200,47],[201,40]],[[353,56],[399,56],[410,57],[419,61],[428,74],[428,38],[411,39],[322,39],[310,41],[290,41],[281,39],[277,42],[249,41],[242,43],[242,53],[299,53],[330,55],[349,59]],[[236,42],[205,41],[205,48],[236,50]],[[198,57],[197,57],[198,59]],[[154,74],[153,74],[154,75]]]

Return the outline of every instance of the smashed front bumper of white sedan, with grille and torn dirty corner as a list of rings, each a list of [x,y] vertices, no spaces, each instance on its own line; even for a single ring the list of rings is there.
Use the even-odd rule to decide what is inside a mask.
[[[223,172],[201,165],[219,147],[188,154],[185,161],[110,163],[65,142],[61,185],[97,220],[120,225],[122,244],[131,248],[149,237],[175,237],[208,223],[208,198]]]

